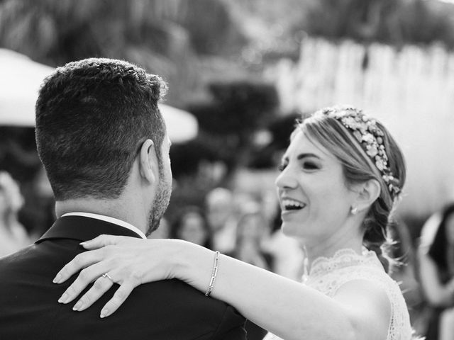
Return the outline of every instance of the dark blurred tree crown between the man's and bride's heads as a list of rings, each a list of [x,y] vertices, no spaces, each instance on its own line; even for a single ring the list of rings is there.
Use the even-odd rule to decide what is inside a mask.
[[[258,81],[216,81],[209,84],[211,101],[189,106],[199,121],[201,139],[225,162],[229,173],[247,164],[255,132],[275,117],[275,86]]]

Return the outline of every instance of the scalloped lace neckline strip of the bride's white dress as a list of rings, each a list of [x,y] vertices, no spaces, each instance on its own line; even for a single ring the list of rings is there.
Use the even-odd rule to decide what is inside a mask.
[[[312,262],[311,269],[308,271],[308,263],[304,261],[303,281],[309,277],[322,276],[339,268],[349,266],[368,265],[382,268],[379,259],[374,251],[362,249],[362,254],[358,254],[351,248],[339,249],[333,256],[320,256]]]

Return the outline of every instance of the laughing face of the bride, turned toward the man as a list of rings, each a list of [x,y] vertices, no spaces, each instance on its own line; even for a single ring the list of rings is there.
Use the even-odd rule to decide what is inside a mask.
[[[348,219],[356,192],[345,186],[341,163],[325,147],[297,131],[281,169],[276,184],[282,202],[284,234],[303,239],[306,248],[311,248],[311,244],[325,239],[327,233],[338,233],[348,242],[352,232],[360,232],[346,223],[338,227],[341,220]],[[345,246],[351,248],[353,244],[349,243]]]

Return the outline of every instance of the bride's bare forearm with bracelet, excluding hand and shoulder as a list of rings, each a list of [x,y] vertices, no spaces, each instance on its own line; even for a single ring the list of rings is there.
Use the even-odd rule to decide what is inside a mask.
[[[206,291],[214,252],[199,246],[178,260],[175,275]],[[286,340],[349,339],[353,325],[335,300],[300,283],[221,255],[212,297],[228,302],[246,318]]]

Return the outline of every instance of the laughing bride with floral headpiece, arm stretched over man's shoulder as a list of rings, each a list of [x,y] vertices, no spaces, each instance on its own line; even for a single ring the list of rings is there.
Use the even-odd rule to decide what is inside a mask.
[[[411,339],[404,297],[378,259],[405,181],[386,128],[355,108],[323,109],[297,123],[281,170],[282,229],[309,260],[302,284],[189,242],[103,235],[57,274],[62,283],[84,268],[60,302],[95,281],[74,305],[82,311],[117,283],[107,317],[137,285],[178,278],[236,307],[265,339]]]

